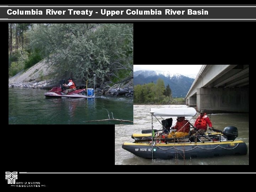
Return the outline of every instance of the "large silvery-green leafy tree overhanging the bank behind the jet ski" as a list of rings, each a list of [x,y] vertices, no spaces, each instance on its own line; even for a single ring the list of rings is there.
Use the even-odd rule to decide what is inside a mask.
[[[30,31],[30,47],[51,57],[59,77],[93,81],[96,74],[103,84],[133,76],[133,24],[38,23]]]

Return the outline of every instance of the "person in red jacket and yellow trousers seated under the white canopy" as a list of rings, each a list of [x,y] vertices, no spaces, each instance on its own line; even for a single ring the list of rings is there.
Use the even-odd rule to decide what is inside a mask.
[[[171,132],[168,137],[174,136],[174,137],[185,137],[188,135],[188,132],[190,131],[190,124],[185,117],[177,117],[177,123],[172,129],[176,129],[176,132]]]

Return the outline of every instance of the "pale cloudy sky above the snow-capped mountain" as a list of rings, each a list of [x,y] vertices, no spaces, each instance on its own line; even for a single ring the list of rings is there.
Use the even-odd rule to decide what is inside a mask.
[[[133,65],[133,71],[170,71],[172,74],[179,73],[191,78],[196,78],[201,66],[202,65]]]

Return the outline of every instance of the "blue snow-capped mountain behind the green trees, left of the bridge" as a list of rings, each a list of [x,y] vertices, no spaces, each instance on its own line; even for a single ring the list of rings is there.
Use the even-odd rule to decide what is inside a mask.
[[[164,80],[165,86],[168,84],[172,90],[172,97],[185,97],[194,79],[171,71],[147,71],[140,70],[133,72],[134,85],[143,85],[150,82],[156,83],[158,79]]]

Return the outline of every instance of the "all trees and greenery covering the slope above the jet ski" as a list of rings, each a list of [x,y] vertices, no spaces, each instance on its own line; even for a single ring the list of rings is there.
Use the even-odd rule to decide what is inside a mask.
[[[9,77],[47,59],[47,79],[70,77],[96,84],[133,78],[133,24],[9,23]],[[41,79],[42,79],[41,76]]]

